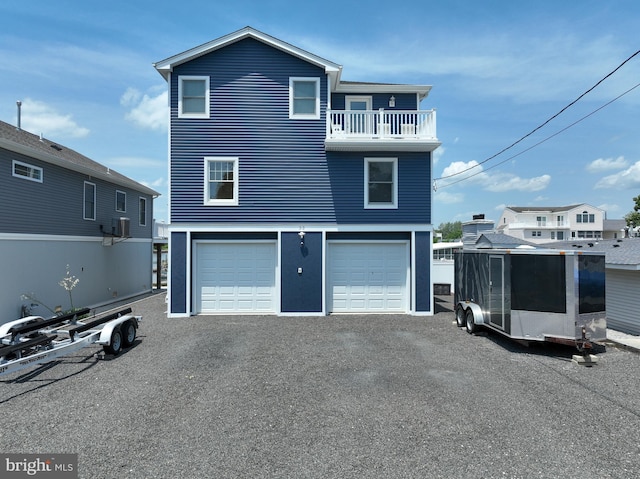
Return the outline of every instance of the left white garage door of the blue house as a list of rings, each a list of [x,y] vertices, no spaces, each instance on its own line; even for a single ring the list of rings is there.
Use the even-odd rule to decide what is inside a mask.
[[[197,243],[196,313],[275,312],[276,244]]]

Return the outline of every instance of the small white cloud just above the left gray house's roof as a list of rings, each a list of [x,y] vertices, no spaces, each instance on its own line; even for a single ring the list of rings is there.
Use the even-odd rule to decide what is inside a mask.
[[[71,115],[58,113],[46,103],[31,98],[22,101],[20,123],[23,129],[49,138],[82,138],[89,134],[89,129],[78,125]]]

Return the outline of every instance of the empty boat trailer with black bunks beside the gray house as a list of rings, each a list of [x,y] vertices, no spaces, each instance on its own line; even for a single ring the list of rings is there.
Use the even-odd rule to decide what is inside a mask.
[[[142,317],[133,315],[131,308],[84,318],[90,311],[84,308],[50,319],[27,316],[0,325],[0,376],[45,364],[92,344],[117,355],[134,343]]]

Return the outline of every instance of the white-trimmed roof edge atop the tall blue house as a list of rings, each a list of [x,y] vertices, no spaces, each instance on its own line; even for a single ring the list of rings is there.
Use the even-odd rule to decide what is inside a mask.
[[[269,45],[278,50],[282,50],[285,53],[298,57],[304,61],[307,61],[313,65],[323,68],[325,73],[329,76],[331,82],[331,91],[339,91],[344,93],[349,92],[362,92],[363,87],[366,87],[367,92],[371,93],[417,93],[419,99],[423,100],[429,94],[431,85],[406,85],[406,84],[394,84],[394,83],[365,83],[365,82],[343,82],[340,80],[342,75],[342,65],[338,65],[332,61],[326,60],[318,55],[310,53],[302,48],[298,48],[290,43],[279,40],[271,35],[267,35],[252,27],[244,27],[235,32],[224,35],[210,42],[204,43],[197,47],[191,48],[185,52],[178,53],[164,60],[160,60],[153,64],[156,70],[164,77],[165,80],[169,79],[169,74],[178,65],[194,60],[208,53],[211,53],[220,48],[224,48],[232,43],[244,40],[245,38],[253,38],[266,45]]]

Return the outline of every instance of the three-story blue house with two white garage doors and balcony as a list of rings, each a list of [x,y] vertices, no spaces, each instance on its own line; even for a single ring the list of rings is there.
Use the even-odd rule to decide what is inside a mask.
[[[432,314],[431,87],[246,27],[169,85],[169,316]]]

